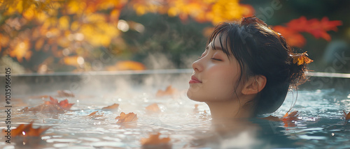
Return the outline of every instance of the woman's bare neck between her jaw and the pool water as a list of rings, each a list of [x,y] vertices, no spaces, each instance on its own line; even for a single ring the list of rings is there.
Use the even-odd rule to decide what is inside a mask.
[[[252,109],[250,107],[242,107],[244,103],[239,103],[237,100],[206,103],[209,106],[213,120],[253,117]]]

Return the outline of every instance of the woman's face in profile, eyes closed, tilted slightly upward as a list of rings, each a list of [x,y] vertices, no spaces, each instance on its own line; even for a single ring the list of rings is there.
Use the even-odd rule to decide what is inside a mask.
[[[216,46],[214,48],[213,42]],[[237,98],[235,86],[241,70],[235,57],[230,54],[229,59],[220,45],[219,38],[215,38],[209,43],[200,59],[193,63],[194,72],[187,92],[191,100],[222,102]],[[223,42],[223,45],[226,44]],[[236,92],[239,95],[239,88]]]

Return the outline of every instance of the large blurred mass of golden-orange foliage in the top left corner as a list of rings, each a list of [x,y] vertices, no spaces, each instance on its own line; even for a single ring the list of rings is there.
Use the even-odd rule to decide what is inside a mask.
[[[120,38],[117,24],[126,3],[127,0],[1,0],[4,20],[0,23],[0,50],[19,62],[23,58],[29,61],[33,51],[51,52],[55,58],[85,58],[90,49],[83,45],[90,44],[91,49],[106,47]],[[70,52],[63,52],[65,48]],[[76,61],[62,61],[80,66]]]

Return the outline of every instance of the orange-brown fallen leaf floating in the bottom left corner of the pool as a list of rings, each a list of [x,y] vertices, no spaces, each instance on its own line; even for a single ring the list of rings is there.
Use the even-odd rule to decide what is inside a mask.
[[[50,127],[38,127],[38,128],[33,128],[32,127],[33,122],[25,125],[21,124],[17,128],[11,130],[11,136],[41,136],[43,132],[48,130]],[[5,130],[3,130],[3,133],[5,133]]]

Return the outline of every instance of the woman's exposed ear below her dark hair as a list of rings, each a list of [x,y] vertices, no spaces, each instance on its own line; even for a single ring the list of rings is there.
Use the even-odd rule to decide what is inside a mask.
[[[246,81],[246,84],[244,84],[241,93],[244,95],[257,94],[264,89],[266,81],[266,77],[263,75],[255,75],[250,77],[248,81]]]

